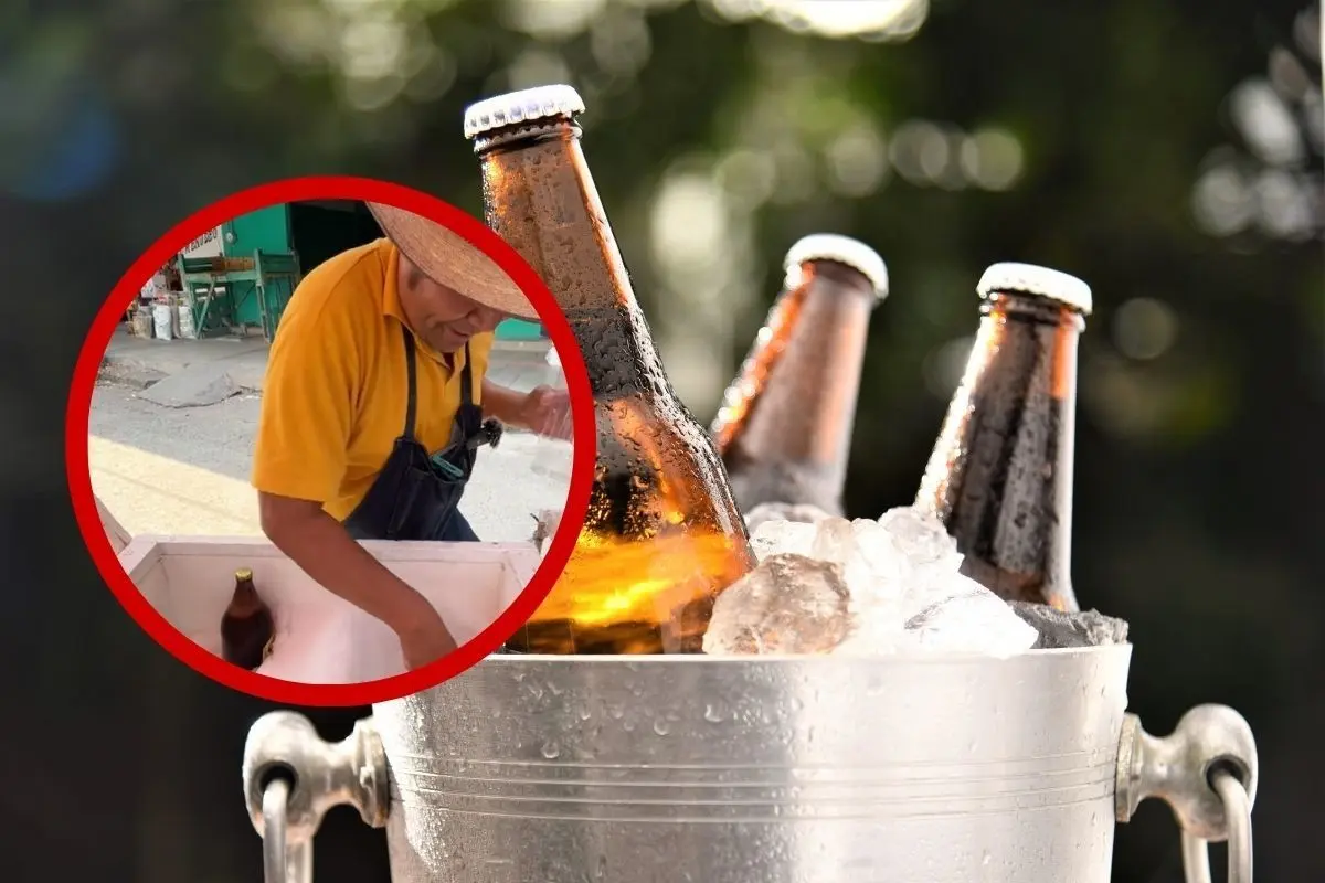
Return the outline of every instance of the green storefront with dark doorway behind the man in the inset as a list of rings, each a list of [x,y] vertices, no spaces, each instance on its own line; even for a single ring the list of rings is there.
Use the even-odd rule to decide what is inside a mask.
[[[193,327],[208,335],[261,330],[270,340],[303,274],[379,238],[382,228],[363,203],[318,200],[249,212],[219,233],[220,254],[192,256],[186,249],[178,259]],[[498,340],[543,336],[535,322],[509,319],[497,327]]]

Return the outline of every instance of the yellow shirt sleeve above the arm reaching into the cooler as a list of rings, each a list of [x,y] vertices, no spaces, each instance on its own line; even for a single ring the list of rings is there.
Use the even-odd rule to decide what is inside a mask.
[[[306,299],[292,298],[268,356],[252,483],[326,503],[338,495],[348,462],[359,349],[352,316],[327,297],[297,294]]]

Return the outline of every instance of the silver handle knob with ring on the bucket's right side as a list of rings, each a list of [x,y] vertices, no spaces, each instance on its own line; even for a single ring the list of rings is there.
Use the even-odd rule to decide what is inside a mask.
[[[1147,797],[1169,804],[1182,827],[1187,883],[1210,883],[1208,843],[1228,842],[1228,883],[1251,883],[1251,808],[1256,802],[1256,740],[1227,706],[1196,706],[1162,739],[1126,715],[1118,743],[1114,809],[1132,819]]]

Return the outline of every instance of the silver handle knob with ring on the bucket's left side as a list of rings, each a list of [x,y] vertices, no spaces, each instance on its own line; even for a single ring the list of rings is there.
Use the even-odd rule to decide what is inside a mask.
[[[372,827],[387,823],[387,756],[372,719],[333,744],[303,715],[262,715],[244,744],[244,800],[266,883],[311,883],[313,835],[329,809],[348,804]]]

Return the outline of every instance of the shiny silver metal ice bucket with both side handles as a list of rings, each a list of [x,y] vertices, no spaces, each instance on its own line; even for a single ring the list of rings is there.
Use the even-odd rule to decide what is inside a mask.
[[[1130,657],[498,655],[339,744],[264,716],[244,790],[269,883],[311,880],[337,804],[386,825],[398,883],[1105,883],[1150,796],[1189,880],[1223,839],[1251,880],[1247,723],[1146,735]]]

